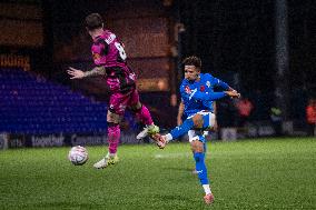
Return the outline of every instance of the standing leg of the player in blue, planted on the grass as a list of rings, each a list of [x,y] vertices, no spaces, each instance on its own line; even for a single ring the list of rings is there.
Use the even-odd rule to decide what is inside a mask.
[[[196,162],[196,172],[205,191],[204,200],[207,204],[210,204],[214,201],[214,196],[209,187],[207,168],[205,164],[206,139],[203,134],[195,134],[195,131],[191,131],[191,133],[189,133],[189,141]]]

